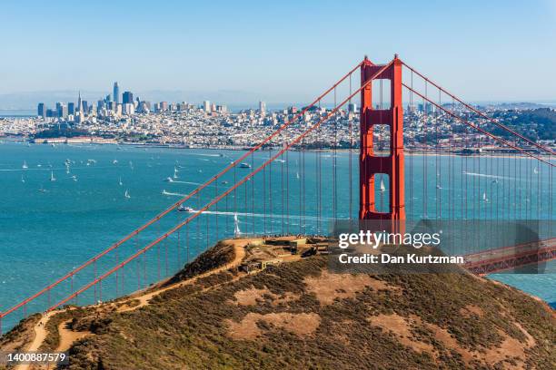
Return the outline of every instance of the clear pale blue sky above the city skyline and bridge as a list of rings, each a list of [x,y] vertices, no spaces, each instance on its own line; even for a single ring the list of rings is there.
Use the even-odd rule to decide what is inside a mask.
[[[556,100],[556,0],[11,1],[0,94],[123,89],[306,101],[398,53],[471,101]]]

